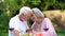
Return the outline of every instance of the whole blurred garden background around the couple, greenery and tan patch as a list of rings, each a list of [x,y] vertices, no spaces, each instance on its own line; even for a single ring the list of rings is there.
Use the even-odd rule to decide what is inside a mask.
[[[0,0],[0,36],[9,35],[9,21],[23,6],[41,10],[51,19],[57,36],[65,36],[65,0]]]

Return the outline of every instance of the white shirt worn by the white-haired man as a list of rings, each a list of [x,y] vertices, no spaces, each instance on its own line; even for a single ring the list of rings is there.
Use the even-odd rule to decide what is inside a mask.
[[[27,25],[27,21],[21,21],[18,15],[16,15],[15,17],[11,18],[9,22],[9,29],[14,29],[23,33],[26,32],[26,30],[29,28]],[[10,30],[9,30],[9,36],[14,36],[13,32]]]

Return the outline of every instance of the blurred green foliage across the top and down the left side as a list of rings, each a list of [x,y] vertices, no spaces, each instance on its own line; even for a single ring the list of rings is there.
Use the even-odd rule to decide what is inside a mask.
[[[9,20],[18,14],[17,11],[23,6],[38,7],[41,11],[65,10],[65,0],[3,0],[0,2],[0,36],[8,36]],[[29,20],[29,23],[32,21]]]

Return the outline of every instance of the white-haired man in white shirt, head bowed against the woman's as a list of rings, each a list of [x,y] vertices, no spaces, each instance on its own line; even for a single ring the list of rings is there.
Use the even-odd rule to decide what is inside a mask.
[[[9,36],[20,36],[20,33],[28,30],[27,20],[31,16],[31,10],[24,6],[20,10],[20,14],[11,18],[9,22]]]

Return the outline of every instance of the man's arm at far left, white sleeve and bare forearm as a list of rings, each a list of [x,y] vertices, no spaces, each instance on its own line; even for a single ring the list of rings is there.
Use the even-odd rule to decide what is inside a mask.
[[[14,22],[13,19],[11,19],[10,22],[9,22],[9,29],[13,29],[13,30],[10,30],[11,32],[13,32],[12,34],[14,34],[15,36],[20,36],[20,32],[18,32],[18,29],[17,29],[17,23]]]

